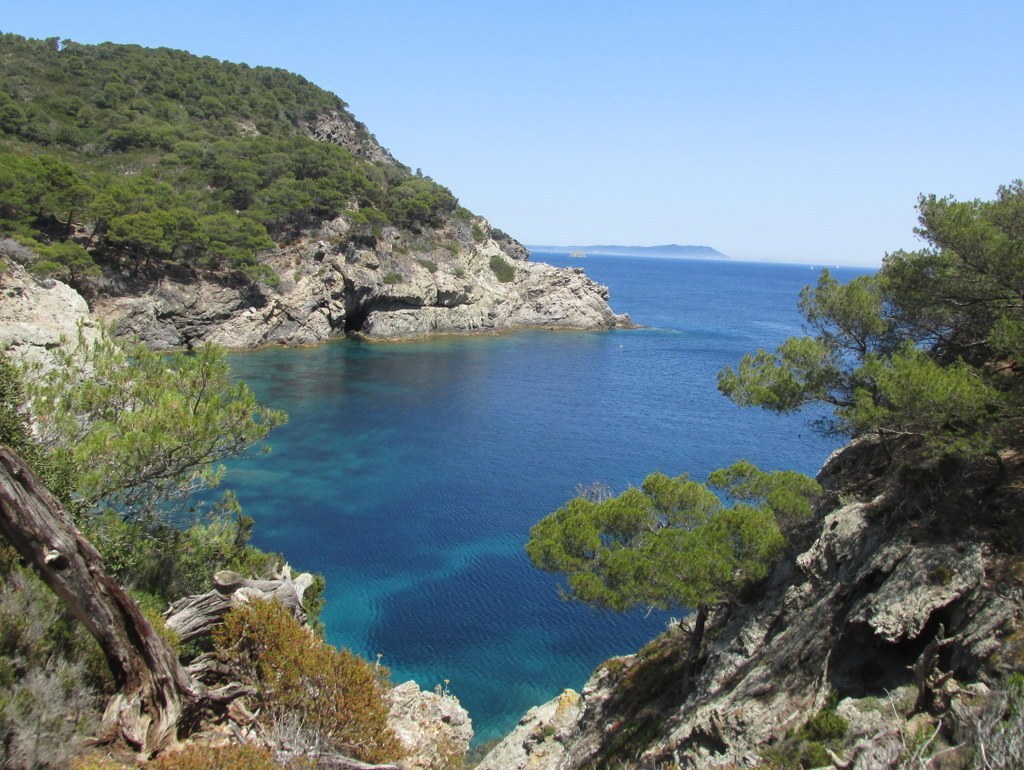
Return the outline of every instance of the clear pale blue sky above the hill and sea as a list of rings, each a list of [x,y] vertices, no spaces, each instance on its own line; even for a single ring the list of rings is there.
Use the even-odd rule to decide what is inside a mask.
[[[0,30],[282,67],[531,244],[879,264],[1024,176],[1024,3],[14,2]]]

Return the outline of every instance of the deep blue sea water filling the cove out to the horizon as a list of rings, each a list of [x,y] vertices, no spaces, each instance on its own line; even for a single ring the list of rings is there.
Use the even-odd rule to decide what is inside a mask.
[[[646,328],[231,356],[291,418],[269,457],[229,468],[255,544],[327,576],[330,641],[380,653],[394,681],[447,682],[477,740],[665,628],[664,613],[562,601],[556,578],[530,566],[530,525],[578,483],[618,491],[653,470],[702,478],[740,458],[813,474],[835,447],[806,417],[740,410],[715,387],[743,352],[800,332],[797,298],[816,271],[535,258],[586,267]]]

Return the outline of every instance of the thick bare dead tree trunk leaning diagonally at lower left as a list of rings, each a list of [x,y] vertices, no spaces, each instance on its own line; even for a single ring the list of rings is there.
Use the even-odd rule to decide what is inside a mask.
[[[152,755],[175,742],[203,686],[104,571],[102,557],[32,470],[0,446],[0,533],[99,642],[119,693],[101,737]]]

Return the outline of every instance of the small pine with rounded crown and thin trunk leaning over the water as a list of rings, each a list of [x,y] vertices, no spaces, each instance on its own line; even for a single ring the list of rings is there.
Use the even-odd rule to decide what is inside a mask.
[[[530,529],[526,553],[565,574],[571,599],[620,611],[695,608],[686,690],[709,611],[768,573],[818,491],[800,473],[748,462],[713,472],[707,484],[652,473],[617,497],[573,498]]]

